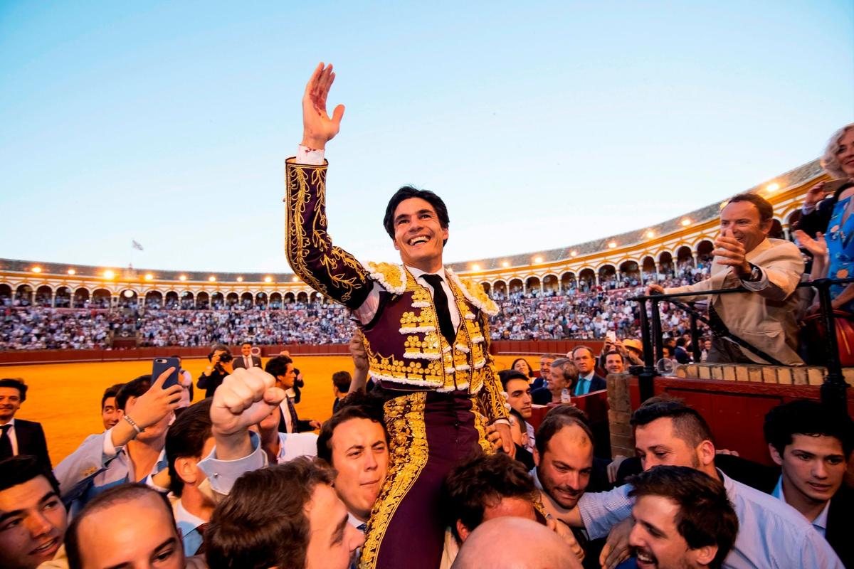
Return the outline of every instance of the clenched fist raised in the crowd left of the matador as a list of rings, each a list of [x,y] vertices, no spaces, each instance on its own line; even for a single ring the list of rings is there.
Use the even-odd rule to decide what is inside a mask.
[[[260,368],[236,369],[213,392],[211,421],[214,437],[247,431],[251,425],[269,416],[283,399],[284,390],[276,386],[276,378],[271,374]]]

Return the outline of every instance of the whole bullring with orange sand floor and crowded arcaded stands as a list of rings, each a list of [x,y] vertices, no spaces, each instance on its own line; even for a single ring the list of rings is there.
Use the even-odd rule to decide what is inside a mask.
[[[747,191],[763,195],[773,204],[772,232],[789,239],[806,190],[826,179],[828,175],[815,160]],[[732,193],[730,190],[729,194]],[[555,340],[552,335],[537,331],[530,325],[532,322],[520,326],[514,321],[518,320],[518,314],[514,316],[513,307],[521,304],[530,313],[539,314],[542,305],[550,305],[549,310],[559,305],[559,312],[565,316],[573,311],[583,312],[580,306],[584,301],[594,304],[596,299],[608,298],[623,311],[625,306],[632,305],[629,300],[632,293],[642,291],[647,282],[687,283],[705,278],[712,241],[718,232],[718,215],[728,192],[723,190],[719,197],[709,206],[685,212],[678,218],[605,239],[452,264],[461,276],[480,282],[503,309],[491,323],[496,369],[508,368],[516,357],[528,357],[534,362],[541,353],[564,354],[575,345],[590,345],[598,353],[609,329],[620,338],[638,338],[637,322],[629,319],[623,322],[617,316],[611,319],[610,328],[596,328],[593,318],[593,325],[586,322]],[[152,357],[178,353],[185,358],[184,367],[194,378],[201,373],[207,364],[202,356],[214,343],[213,337],[176,336],[178,333],[173,334],[171,328],[164,335],[158,322],[172,322],[170,319],[176,317],[184,322],[195,318],[191,322],[196,326],[200,317],[228,315],[229,328],[227,332],[219,329],[216,341],[239,345],[244,339],[253,340],[260,345],[265,359],[283,347],[289,348],[306,378],[299,412],[319,421],[330,416],[331,374],[339,369],[352,369],[345,344],[352,326],[346,314],[288,273],[178,272],[2,259],[0,303],[6,306],[7,313],[6,334],[0,338],[4,348],[0,351],[2,374],[24,378],[32,386],[20,417],[44,425],[55,463],[87,434],[99,431],[97,406],[102,390],[149,373]],[[92,328],[87,328],[79,338],[74,334],[56,334],[53,339],[49,339],[50,334],[38,337],[11,334],[9,315],[26,311],[31,316],[47,316],[49,320],[53,315],[102,322],[87,324]],[[288,319],[291,316],[308,317],[310,324],[294,326]],[[538,317],[553,316],[552,312]],[[252,328],[241,324],[247,318],[254,319]],[[685,322],[679,323],[679,318],[665,319],[663,331],[666,333],[677,325],[687,326]],[[172,340],[179,337],[180,341],[174,343],[183,347],[168,345],[170,342],[164,338],[169,339],[169,334]],[[680,373],[693,373],[705,380],[735,380],[737,375],[733,370],[725,373],[722,369],[688,369]],[[748,380],[748,377],[745,373],[739,379]],[[780,400],[786,394],[763,391],[763,386],[771,383],[775,387],[803,386],[812,390],[809,397],[817,398],[817,387],[822,380],[822,372],[807,370],[803,374],[781,370],[773,378],[762,374],[749,378],[760,384],[752,397],[767,402]],[[196,390],[196,400],[200,397],[200,390]],[[746,411],[751,417],[747,423],[761,419],[767,402]],[[606,408],[602,413],[606,413]],[[625,422],[621,413],[624,411],[611,409],[611,415],[603,415],[605,421],[609,417],[611,420],[611,449],[606,450],[631,454],[633,447],[626,425],[614,422],[615,417],[622,417]],[[738,433],[729,434],[724,434],[728,446],[734,450],[743,446],[741,450],[748,456],[768,462],[761,440],[746,441]]]

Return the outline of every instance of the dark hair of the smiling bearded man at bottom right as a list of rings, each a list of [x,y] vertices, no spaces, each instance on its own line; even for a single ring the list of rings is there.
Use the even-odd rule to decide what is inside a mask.
[[[659,466],[630,477],[629,496],[662,496],[679,506],[676,530],[688,547],[717,545],[710,567],[722,566],[739,532],[739,518],[723,484],[691,467]]]

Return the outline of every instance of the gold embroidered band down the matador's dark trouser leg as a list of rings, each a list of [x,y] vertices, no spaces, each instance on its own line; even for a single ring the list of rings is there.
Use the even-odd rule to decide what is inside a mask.
[[[389,430],[389,473],[371,510],[365,533],[360,569],[377,566],[377,554],[395,511],[427,464],[427,427],[424,425],[426,392],[410,393],[386,402]]]

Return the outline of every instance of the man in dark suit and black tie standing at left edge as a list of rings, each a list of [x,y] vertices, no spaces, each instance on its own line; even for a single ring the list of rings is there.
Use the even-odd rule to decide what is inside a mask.
[[[41,424],[15,419],[20,404],[26,401],[26,389],[23,380],[0,380],[0,460],[32,455],[41,466],[50,469],[48,444]]]

